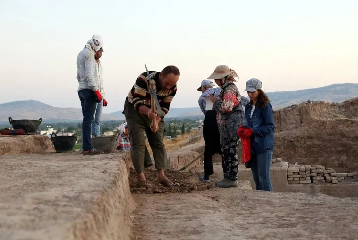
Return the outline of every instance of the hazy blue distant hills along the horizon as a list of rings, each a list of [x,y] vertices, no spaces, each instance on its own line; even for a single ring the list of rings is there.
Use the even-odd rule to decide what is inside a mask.
[[[272,101],[274,109],[291,106],[308,100],[320,100],[328,102],[341,102],[358,96],[358,84],[344,83],[332,84],[320,88],[312,88],[298,91],[269,92],[267,95]],[[39,119],[43,121],[65,122],[81,121],[82,111],[80,108],[58,108],[45,103],[28,100],[15,101],[0,104],[0,122],[8,122],[12,119]],[[199,107],[171,108],[167,118],[203,116]],[[122,111],[103,114],[102,120],[124,120]]]

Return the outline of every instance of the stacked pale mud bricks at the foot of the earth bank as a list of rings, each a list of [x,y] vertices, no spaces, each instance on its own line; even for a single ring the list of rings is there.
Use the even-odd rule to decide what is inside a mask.
[[[336,173],[333,168],[322,165],[294,165],[287,168],[288,183],[338,183],[343,180],[358,179],[358,172]]]

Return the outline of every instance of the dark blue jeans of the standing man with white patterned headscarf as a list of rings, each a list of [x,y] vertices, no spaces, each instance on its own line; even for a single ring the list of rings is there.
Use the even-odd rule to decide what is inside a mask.
[[[92,90],[82,89],[78,91],[81,100],[83,122],[82,122],[82,150],[88,151],[92,149],[91,125],[93,123],[96,111],[97,101],[96,95]]]

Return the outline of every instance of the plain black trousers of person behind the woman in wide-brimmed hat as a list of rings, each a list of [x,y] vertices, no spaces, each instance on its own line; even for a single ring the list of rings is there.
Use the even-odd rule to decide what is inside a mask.
[[[214,173],[212,156],[221,154],[220,135],[216,122],[216,111],[208,110],[205,113],[203,124],[203,137],[205,141],[204,150],[204,175],[209,176]]]

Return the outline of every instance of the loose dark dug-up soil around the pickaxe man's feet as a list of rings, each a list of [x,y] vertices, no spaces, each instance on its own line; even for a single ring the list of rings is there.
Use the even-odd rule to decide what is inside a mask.
[[[132,193],[137,194],[152,194],[152,193],[185,193],[185,192],[199,192],[215,188],[215,181],[213,178],[210,183],[199,180],[202,174],[198,172],[179,172],[175,170],[166,170],[165,175],[173,182],[173,186],[164,187],[157,181],[157,171],[149,169],[145,171],[147,182],[151,184],[150,187],[137,187],[137,174],[133,168],[130,168],[129,186]],[[252,189],[249,181],[239,181],[238,188]]]

